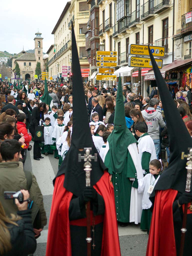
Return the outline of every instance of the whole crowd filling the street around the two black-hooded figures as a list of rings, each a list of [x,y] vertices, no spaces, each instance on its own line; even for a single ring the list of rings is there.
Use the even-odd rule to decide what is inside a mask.
[[[140,228],[149,233],[152,216],[149,196],[170,157],[166,119],[157,90],[153,88],[151,95],[143,98],[134,94],[127,84],[123,85],[122,92],[118,92],[116,85],[104,88],[89,81],[83,87],[92,140],[114,186],[117,221],[121,227],[126,227],[129,222],[141,223]],[[22,88],[19,83],[0,82],[0,89],[0,229],[3,230],[0,237],[6,237],[4,241],[1,239],[0,253],[14,255],[12,251],[20,247],[29,254],[36,249],[35,237],[40,235],[47,217],[36,178],[34,175],[29,177],[31,174],[25,170],[27,151],[31,150],[33,140],[33,159],[39,161],[48,154],[54,154],[60,168],[72,143],[73,88],[66,82],[49,81],[44,84],[23,81]],[[52,99],[51,104],[41,101],[45,91]],[[187,86],[184,90],[180,87],[174,102],[192,137],[190,88]],[[124,111],[125,117],[121,117]],[[118,131],[119,141],[114,141],[109,136],[114,125],[124,126],[123,119],[130,133],[123,128],[124,132]],[[127,151],[122,151],[123,145],[128,147]],[[167,153],[167,163],[164,164],[161,161],[162,148],[166,148]],[[7,184],[9,176],[11,180]],[[13,205],[3,198],[3,191],[14,190],[23,193],[22,204],[16,200]],[[30,198],[33,201],[31,209],[27,203]],[[138,202],[137,207],[135,201]],[[17,217],[10,217],[16,213]],[[21,222],[25,226],[19,231],[19,236],[25,237],[26,246],[25,243],[20,244],[19,236],[15,237],[17,231],[14,230]]]

